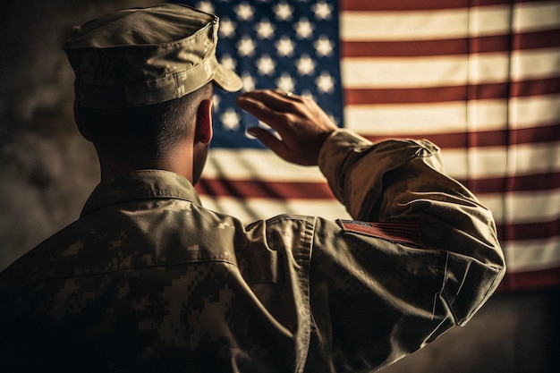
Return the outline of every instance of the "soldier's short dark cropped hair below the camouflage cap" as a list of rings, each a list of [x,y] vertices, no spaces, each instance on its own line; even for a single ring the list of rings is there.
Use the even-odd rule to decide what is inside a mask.
[[[165,157],[191,131],[202,100],[211,97],[213,84],[183,97],[151,106],[98,109],[76,106],[77,116],[98,151],[140,146],[153,157]]]

